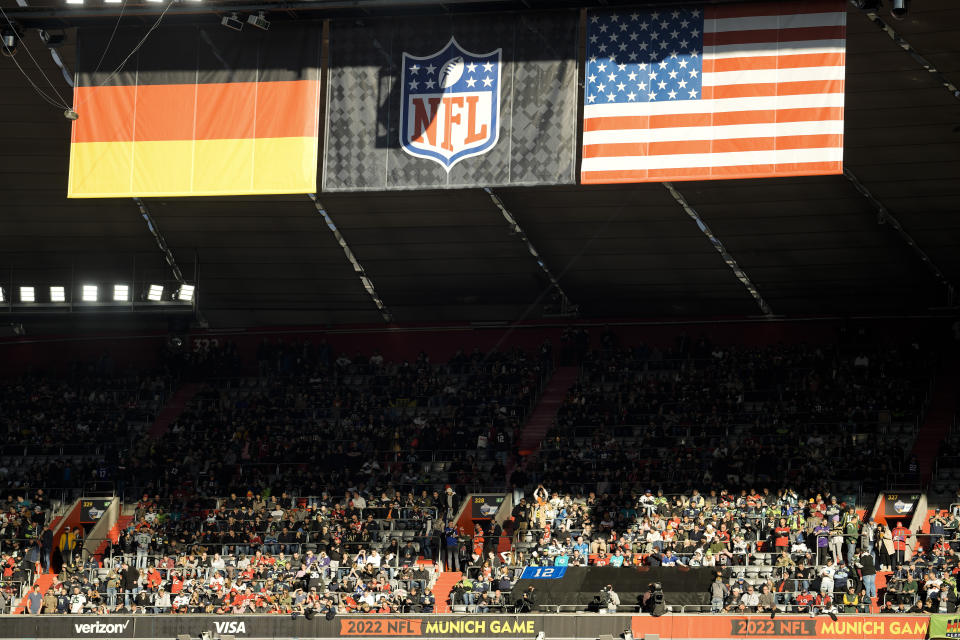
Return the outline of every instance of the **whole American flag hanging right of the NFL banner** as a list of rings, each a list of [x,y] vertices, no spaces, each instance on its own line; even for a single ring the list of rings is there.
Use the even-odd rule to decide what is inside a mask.
[[[846,10],[589,11],[581,182],[841,173]]]

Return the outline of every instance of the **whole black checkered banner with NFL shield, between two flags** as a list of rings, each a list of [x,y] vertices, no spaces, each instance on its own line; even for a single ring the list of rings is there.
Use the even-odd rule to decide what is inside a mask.
[[[330,27],[324,191],[569,184],[577,13]]]

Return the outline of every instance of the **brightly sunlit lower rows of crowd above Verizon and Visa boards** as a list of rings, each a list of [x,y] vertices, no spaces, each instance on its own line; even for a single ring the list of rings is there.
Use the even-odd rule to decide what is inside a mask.
[[[321,551],[117,558],[103,569],[68,566],[33,613],[430,613],[432,575],[362,550],[340,560]]]

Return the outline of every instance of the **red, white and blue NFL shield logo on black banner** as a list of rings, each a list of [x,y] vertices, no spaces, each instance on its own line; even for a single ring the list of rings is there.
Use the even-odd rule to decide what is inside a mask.
[[[500,137],[501,49],[471,53],[454,38],[430,56],[403,53],[400,146],[447,173]]]

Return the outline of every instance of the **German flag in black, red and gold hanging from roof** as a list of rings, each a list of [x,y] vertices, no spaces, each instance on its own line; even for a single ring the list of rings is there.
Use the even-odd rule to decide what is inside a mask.
[[[319,25],[145,33],[80,31],[68,197],[316,191]]]

